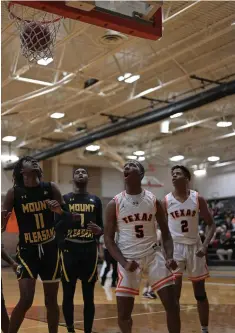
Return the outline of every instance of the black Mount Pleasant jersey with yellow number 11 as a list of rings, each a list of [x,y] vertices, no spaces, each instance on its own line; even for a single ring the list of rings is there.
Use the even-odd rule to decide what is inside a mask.
[[[54,213],[46,200],[53,199],[51,183],[37,187],[14,187],[14,210],[20,245],[37,245],[54,238]]]

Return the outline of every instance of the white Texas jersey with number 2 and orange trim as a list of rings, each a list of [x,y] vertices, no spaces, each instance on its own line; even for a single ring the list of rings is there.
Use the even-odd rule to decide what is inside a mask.
[[[188,199],[181,203],[172,193],[165,197],[168,225],[176,243],[196,244],[199,239],[199,204],[198,193],[190,190]]]

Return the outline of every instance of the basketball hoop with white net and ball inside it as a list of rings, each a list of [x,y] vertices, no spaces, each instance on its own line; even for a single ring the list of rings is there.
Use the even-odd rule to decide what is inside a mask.
[[[9,17],[20,33],[22,55],[29,62],[53,58],[57,32],[63,17],[35,8],[8,3]]]

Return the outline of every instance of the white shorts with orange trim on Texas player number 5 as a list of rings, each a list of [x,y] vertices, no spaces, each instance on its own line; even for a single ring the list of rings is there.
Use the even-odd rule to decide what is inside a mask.
[[[139,295],[141,278],[144,273],[148,275],[147,279],[152,290],[160,290],[174,284],[175,277],[166,267],[166,260],[160,250],[135,261],[139,264],[139,268],[135,272],[128,272],[118,264],[117,296]]]

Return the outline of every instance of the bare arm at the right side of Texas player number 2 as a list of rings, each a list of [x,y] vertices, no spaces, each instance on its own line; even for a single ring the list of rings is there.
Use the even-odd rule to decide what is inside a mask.
[[[203,247],[197,252],[198,257],[203,257],[206,254],[207,247],[210,244],[210,241],[212,240],[215,230],[216,230],[216,225],[213,219],[213,216],[211,212],[209,211],[208,205],[206,200],[201,197],[200,195],[198,196],[198,203],[199,203],[199,213],[200,216],[203,218],[204,222],[208,226],[208,232],[206,235],[206,238],[203,242]]]

